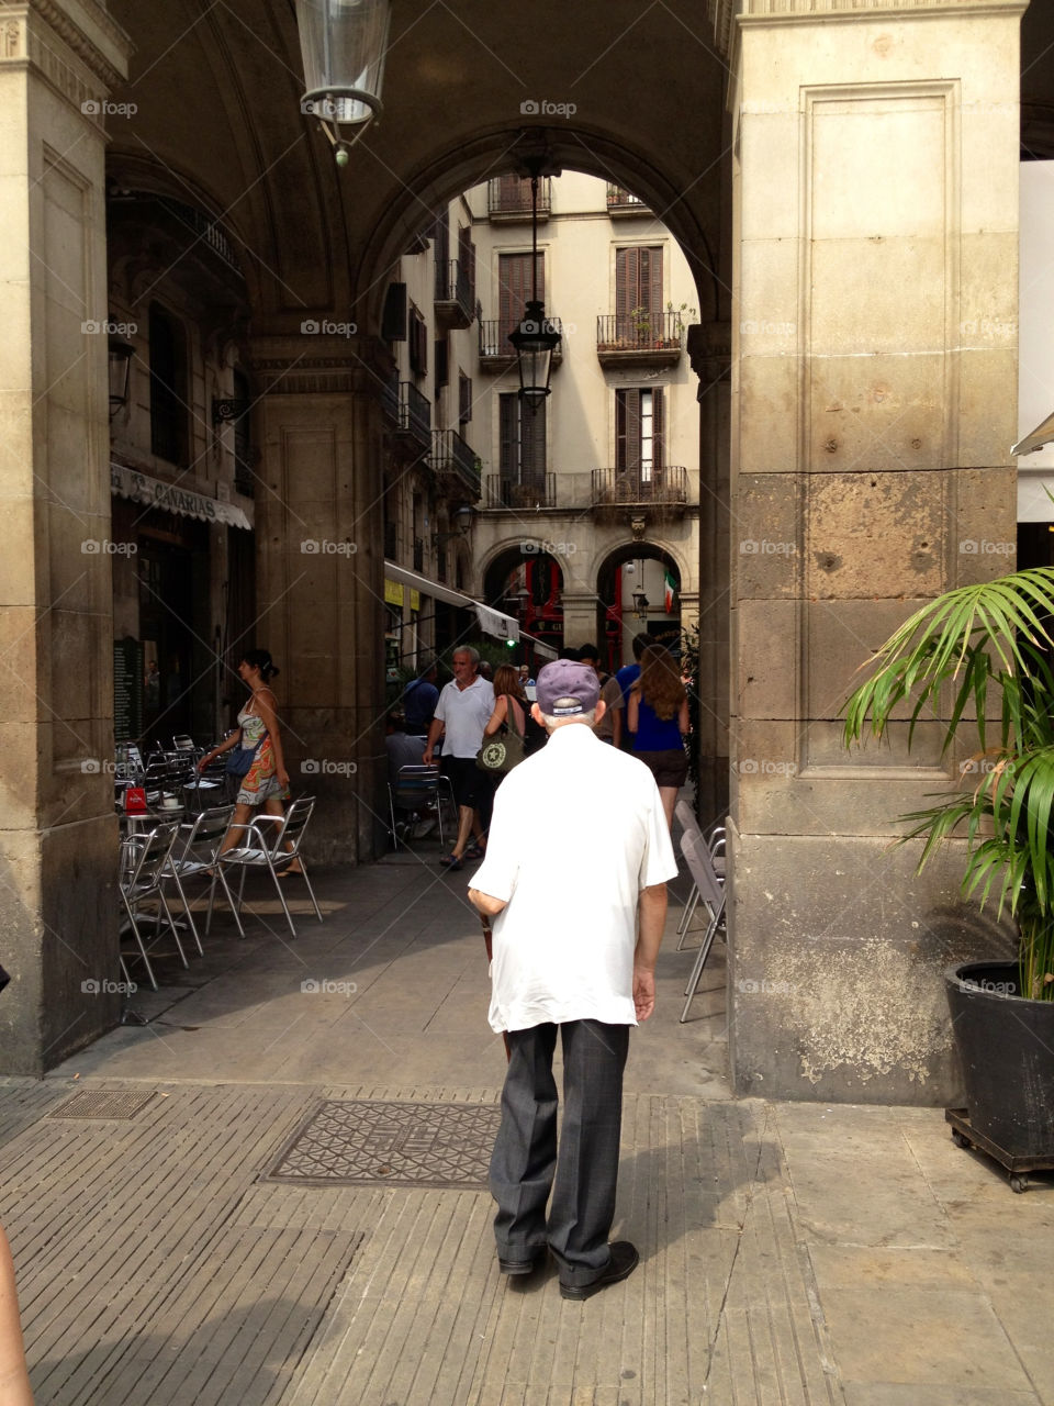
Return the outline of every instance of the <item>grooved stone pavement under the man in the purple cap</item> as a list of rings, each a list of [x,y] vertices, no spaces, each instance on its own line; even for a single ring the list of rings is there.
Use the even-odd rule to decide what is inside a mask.
[[[148,1025],[0,1081],[38,1406],[1054,1406],[1054,1178],[1013,1195],[939,1111],[732,1099],[720,945],[682,1026],[668,941],[632,1039],[639,1270],[586,1303],[506,1282],[465,877],[320,875],[322,925],[263,901],[162,963]]]

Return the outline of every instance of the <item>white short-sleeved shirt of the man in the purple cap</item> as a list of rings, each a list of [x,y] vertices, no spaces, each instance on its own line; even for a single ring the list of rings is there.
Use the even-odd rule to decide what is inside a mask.
[[[676,877],[655,778],[585,723],[557,728],[502,782],[472,887],[493,924],[495,1031],[594,1019],[635,1025],[641,889]]]

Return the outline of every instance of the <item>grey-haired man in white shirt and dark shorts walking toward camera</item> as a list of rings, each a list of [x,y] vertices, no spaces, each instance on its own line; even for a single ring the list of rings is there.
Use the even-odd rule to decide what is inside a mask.
[[[453,851],[440,860],[445,869],[461,869],[465,856],[483,855],[481,811],[490,800],[490,782],[476,766],[476,752],[483,745],[483,728],[495,710],[495,688],[479,678],[479,654],[469,645],[454,650],[454,678],[447,683],[429,723],[429,740],[422,761],[431,766],[436,742],[443,737],[443,770],[450,778],[458,806],[458,838]],[[475,844],[467,849],[468,837]]]

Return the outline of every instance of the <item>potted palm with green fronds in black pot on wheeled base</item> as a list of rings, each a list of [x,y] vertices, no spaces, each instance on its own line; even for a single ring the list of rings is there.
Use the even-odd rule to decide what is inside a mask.
[[[950,842],[963,893],[1017,927],[1017,962],[971,962],[944,984],[965,1114],[953,1136],[1012,1171],[1054,1166],[1054,568],[960,586],[916,610],[861,668],[845,741],[936,716],[956,785],[901,817],[919,869]]]

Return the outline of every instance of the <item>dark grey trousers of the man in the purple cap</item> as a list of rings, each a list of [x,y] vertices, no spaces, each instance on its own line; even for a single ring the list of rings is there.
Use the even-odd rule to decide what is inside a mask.
[[[558,1029],[564,1043],[559,1154],[552,1077]],[[548,1244],[565,1284],[589,1284],[610,1258],[630,1026],[603,1021],[534,1025],[510,1031],[509,1045],[502,1123],[490,1156],[497,1253],[526,1260]]]

